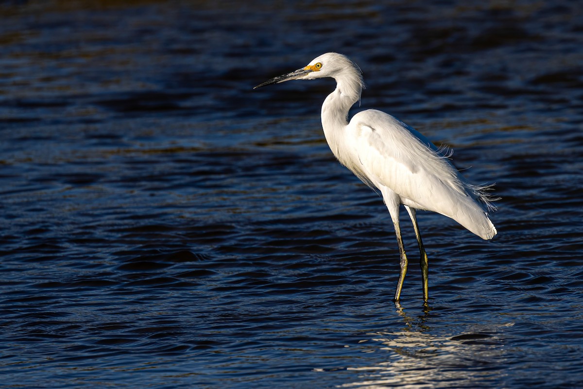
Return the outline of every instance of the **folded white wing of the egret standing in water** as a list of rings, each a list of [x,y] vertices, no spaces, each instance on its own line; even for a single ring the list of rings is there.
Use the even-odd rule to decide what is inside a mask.
[[[379,187],[386,186],[401,203],[458,221],[483,239],[496,229],[476,199],[472,186],[447,157],[416,130],[375,109],[354,115],[347,136],[356,153],[355,172]],[[353,171],[354,168],[350,167]]]

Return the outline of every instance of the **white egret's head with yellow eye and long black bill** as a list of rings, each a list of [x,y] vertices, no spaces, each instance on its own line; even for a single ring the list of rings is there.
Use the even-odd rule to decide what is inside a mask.
[[[262,86],[279,84],[289,80],[313,80],[323,77],[332,77],[336,82],[340,80],[352,79],[356,81],[360,87],[364,86],[362,81],[362,73],[356,63],[350,61],[346,55],[338,54],[336,52],[327,52],[314,59],[307,66],[297,69],[294,72],[287,73],[283,76],[274,77],[262,84],[259,84],[254,89]]]

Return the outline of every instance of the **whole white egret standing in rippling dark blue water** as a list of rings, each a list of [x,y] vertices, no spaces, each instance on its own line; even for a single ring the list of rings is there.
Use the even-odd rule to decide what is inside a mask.
[[[392,222],[401,256],[401,272],[395,302],[401,297],[408,260],[399,227],[401,204],[413,222],[421,253],[423,300],[429,298],[429,264],[423,247],[416,210],[445,215],[482,239],[496,235],[488,217],[493,199],[485,190],[490,186],[471,185],[451,164],[444,150],[394,116],[367,109],[347,121],[348,111],[360,100],[363,77],[356,63],[345,55],[329,52],[313,59],[304,68],[259,84],[262,86],[289,80],[332,77],[336,89],[322,104],[322,128],[326,141],[338,161],[371,188],[382,194]]]

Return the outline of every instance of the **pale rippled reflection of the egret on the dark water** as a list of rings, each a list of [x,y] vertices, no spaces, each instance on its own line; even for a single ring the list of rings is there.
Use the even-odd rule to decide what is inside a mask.
[[[358,378],[342,387],[471,388],[500,379],[506,359],[500,332],[512,323],[478,328],[452,321],[451,333],[437,334],[431,330],[436,317],[428,303],[417,316],[399,303],[395,307],[405,323],[401,330],[368,333],[370,338],[360,340],[363,352],[387,352],[387,358],[373,366],[348,367]]]

